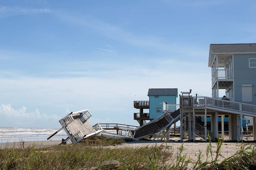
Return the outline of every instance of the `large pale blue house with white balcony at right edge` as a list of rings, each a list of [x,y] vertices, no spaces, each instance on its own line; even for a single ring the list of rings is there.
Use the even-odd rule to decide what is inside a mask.
[[[230,101],[256,105],[256,44],[210,44],[208,67],[213,98],[221,98],[219,89],[225,89]],[[248,122],[253,121],[243,120],[243,128]]]

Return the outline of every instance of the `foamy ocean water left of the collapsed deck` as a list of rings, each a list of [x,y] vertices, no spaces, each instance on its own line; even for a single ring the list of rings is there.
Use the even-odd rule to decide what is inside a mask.
[[[58,128],[0,128],[0,143],[22,141],[46,141]],[[67,134],[62,129],[49,140],[66,139]]]

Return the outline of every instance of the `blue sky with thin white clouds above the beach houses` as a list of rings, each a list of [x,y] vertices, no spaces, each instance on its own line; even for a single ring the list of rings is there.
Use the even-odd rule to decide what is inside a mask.
[[[255,1],[0,0],[0,127],[136,125],[149,88],[211,97],[210,44],[256,43]]]

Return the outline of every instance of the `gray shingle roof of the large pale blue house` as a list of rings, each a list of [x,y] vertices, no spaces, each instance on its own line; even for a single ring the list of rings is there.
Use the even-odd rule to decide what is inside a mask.
[[[256,44],[210,44],[210,53],[256,53]]]

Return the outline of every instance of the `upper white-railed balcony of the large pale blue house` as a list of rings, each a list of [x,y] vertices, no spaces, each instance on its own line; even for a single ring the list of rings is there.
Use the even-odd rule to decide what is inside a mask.
[[[211,78],[212,86],[219,82],[219,89],[226,89],[233,81],[232,69],[216,69]]]

